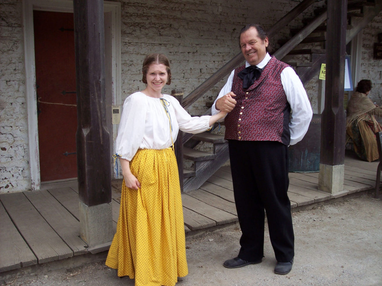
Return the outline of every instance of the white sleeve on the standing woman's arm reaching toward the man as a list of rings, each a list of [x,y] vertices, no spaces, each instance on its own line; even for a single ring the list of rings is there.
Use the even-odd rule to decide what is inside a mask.
[[[169,97],[171,98],[170,102],[173,104],[176,121],[178,122],[179,129],[181,131],[196,134],[206,131],[210,128],[209,121],[211,116],[191,116],[180,105],[179,101],[177,101],[173,96]]]

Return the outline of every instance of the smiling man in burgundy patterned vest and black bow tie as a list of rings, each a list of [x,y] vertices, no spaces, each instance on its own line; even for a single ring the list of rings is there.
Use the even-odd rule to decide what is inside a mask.
[[[264,220],[277,264],[274,272],[290,272],[294,234],[287,191],[288,145],[300,141],[312,118],[301,80],[287,64],[267,53],[268,37],[257,24],[240,32],[245,66],[231,72],[212,106],[225,117],[233,190],[242,235],[237,257],[227,268],[256,264],[264,257]]]

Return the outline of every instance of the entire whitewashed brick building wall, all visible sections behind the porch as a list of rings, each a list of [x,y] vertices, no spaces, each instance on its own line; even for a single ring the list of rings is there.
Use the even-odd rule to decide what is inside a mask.
[[[238,33],[244,24],[257,22],[267,29],[296,4],[292,0],[122,0],[122,99],[145,87],[141,68],[147,53],[164,53],[170,59],[173,81],[163,92],[182,88],[188,95],[240,53]],[[316,6],[323,4],[316,2]],[[309,15],[312,9],[296,18],[292,27],[301,27],[301,18]],[[0,193],[31,188],[22,18],[21,0],[0,0]],[[371,80],[378,85],[382,67],[372,59],[372,43],[374,30],[379,32],[381,25],[378,17],[364,29],[363,40],[363,73],[373,75]],[[282,29],[270,39],[271,45],[277,48],[277,40],[288,34],[287,28]],[[194,103],[191,115],[207,110],[206,102],[216,98],[226,79]],[[317,79],[306,89],[315,109]],[[373,93],[377,89],[375,85]]]

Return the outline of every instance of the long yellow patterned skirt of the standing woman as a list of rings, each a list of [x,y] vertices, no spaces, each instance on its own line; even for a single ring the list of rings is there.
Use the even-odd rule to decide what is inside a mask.
[[[172,149],[139,149],[130,162],[139,190],[122,183],[117,233],[106,265],[135,286],[173,286],[188,274],[178,167]]]

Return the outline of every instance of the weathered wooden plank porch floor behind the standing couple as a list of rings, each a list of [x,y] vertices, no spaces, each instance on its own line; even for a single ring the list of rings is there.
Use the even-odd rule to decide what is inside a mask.
[[[290,173],[291,207],[304,206],[374,189],[378,161],[345,156],[341,193],[317,190],[318,173]],[[114,230],[121,180],[112,182]],[[182,194],[185,231],[237,221],[230,167],[221,167],[198,190]],[[0,272],[89,253],[79,238],[77,181],[43,184],[42,190],[0,194]]]

